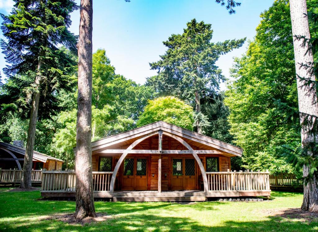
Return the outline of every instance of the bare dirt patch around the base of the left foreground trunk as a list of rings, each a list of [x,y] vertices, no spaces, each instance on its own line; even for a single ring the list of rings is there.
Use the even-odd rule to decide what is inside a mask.
[[[83,220],[79,221],[75,218],[75,214],[54,214],[48,217],[45,217],[45,220],[59,220],[66,222],[71,225],[85,225],[85,224],[91,224],[91,223],[98,223],[101,221],[107,221],[109,219],[113,219],[114,217],[107,214],[101,214],[97,213],[96,217],[86,217]]]

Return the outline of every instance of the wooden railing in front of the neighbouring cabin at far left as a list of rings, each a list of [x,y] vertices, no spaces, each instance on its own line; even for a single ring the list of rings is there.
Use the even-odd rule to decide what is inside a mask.
[[[22,170],[17,169],[1,169],[0,168],[0,182],[1,183],[19,183],[22,178]],[[41,183],[42,170],[32,170],[31,181],[33,183]]]

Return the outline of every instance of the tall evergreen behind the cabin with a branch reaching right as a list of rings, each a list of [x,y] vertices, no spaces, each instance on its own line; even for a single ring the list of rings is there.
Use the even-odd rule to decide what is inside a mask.
[[[200,99],[214,93],[219,82],[225,77],[215,65],[220,55],[243,45],[244,39],[211,42],[211,24],[197,23],[192,19],[183,34],[173,34],[163,44],[168,47],[161,60],[150,63],[151,69],[158,70],[158,76],[148,78],[148,85],[163,90],[163,94],[174,95],[188,100],[196,110],[195,125],[203,133],[207,118],[201,112]]]

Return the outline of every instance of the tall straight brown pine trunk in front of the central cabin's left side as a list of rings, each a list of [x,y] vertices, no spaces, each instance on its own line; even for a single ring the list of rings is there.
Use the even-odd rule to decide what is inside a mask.
[[[78,48],[78,110],[76,123],[76,210],[79,220],[95,217],[92,177],[92,32],[93,0],[81,0]]]

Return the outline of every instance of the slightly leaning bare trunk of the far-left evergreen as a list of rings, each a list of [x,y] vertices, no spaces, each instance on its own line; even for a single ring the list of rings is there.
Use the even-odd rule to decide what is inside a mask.
[[[26,139],[26,148],[25,148],[23,172],[22,172],[20,188],[32,187],[31,173],[32,173],[36,124],[38,119],[38,106],[40,101],[39,85],[40,85],[40,79],[41,79],[41,73],[40,73],[41,65],[42,65],[42,62],[39,60],[38,74],[35,77],[35,91],[32,95],[29,129],[28,129],[28,136]]]

